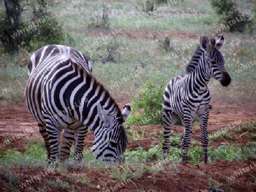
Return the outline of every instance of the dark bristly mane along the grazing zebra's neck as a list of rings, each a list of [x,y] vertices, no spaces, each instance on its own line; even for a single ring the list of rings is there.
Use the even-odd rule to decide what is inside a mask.
[[[110,95],[109,91],[106,90],[104,85],[102,85],[99,81],[97,81],[96,78],[91,73],[89,73],[85,68],[83,68],[76,62],[71,61],[71,64],[73,66],[75,66],[75,68],[80,72],[80,74],[82,74],[84,77],[86,77],[86,79],[89,79],[90,81],[94,81],[94,84],[96,84],[97,86],[100,86],[102,88],[101,93],[105,92],[105,97],[109,98],[110,103],[114,104],[114,110],[117,111],[117,118],[121,117],[122,112],[121,112],[120,108],[118,107],[117,102],[115,102],[115,100]]]

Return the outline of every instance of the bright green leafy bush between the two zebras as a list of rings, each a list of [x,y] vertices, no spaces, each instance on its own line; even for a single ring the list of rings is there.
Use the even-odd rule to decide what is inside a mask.
[[[127,119],[127,126],[163,125],[162,103],[167,83],[162,80],[160,73],[157,77],[156,84],[151,80],[146,82],[139,92],[139,99],[133,98],[133,112]],[[182,125],[180,118],[176,120],[176,125]]]

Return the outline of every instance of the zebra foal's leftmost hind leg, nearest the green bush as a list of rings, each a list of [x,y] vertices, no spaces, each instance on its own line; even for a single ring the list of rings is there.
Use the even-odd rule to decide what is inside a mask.
[[[177,115],[172,112],[171,110],[163,109],[163,132],[164,132],[164,142],[163,142],[163,153],[168,154],[170,151],[171,147],[171,141],[170,141],[170,136],[171,136],[171,130],[172,126],[174,126],[175,121],[177,119]]]

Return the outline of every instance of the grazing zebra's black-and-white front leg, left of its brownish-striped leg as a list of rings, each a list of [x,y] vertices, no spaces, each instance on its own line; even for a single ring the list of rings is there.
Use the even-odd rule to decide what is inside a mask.
[[[51,146],[51,162],[59,160],[60,130],[53,126],[49,120],[46,122],[46,130],[48,132],[49,144]]]

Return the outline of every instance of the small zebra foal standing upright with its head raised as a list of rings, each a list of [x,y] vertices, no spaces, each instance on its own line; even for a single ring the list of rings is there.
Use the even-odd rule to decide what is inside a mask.
[[[201,143],[204,149],[204,162],[208,161],[208,132],[207,123],[209,117],[210,92],[208,82],[210,77],[221,82],[222,86],[228,86],[231,78],[224,66],[224,57],[219,49],[224,45],[224,36],[209,39],[201,36],[201,56],[194,58],[198,62],[189,62],[185,76],[177,76],[168,82],[163,102],[164,142],[163,152],[170,150],[171,128],[179,115],[184,126],[181,150],[183,162],[187,162],[188,147],[191,143],[191,128],[196,114],[199,115],[201,127]],[[196,53],[198,53],[196,51]],[[193,58],[193,57],[192,57]],[[194,60],[195,61],[195,60]]]

